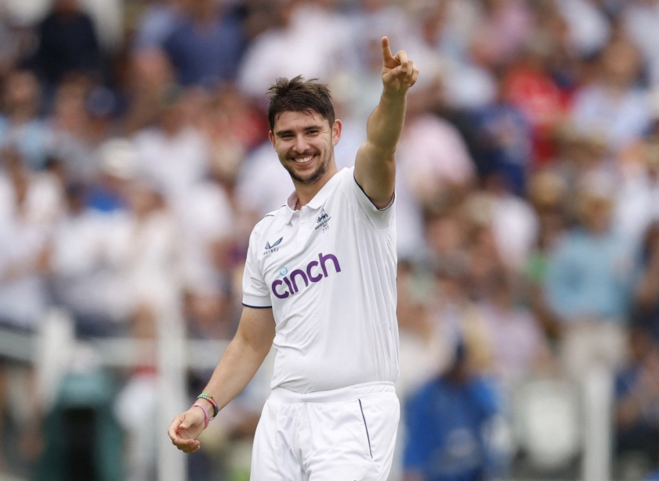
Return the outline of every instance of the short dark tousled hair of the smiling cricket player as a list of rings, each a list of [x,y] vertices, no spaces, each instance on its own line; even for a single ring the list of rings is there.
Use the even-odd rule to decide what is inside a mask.
[[[315,112],[334,124],[334,105],[329,88],[317,84],[316,79],[305,80],[301,75],[293,79],[280,78],[269,88],[268,121],[270,130],[277,117],[284,112]]]

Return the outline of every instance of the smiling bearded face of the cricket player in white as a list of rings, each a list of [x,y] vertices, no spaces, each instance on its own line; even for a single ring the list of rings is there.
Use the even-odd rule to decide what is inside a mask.
[[[341,135],[341,122],[329,121],[313,111],[282,112],[277,116],[270,141],[296,188],[319,190],[334,173],[334,146]]]

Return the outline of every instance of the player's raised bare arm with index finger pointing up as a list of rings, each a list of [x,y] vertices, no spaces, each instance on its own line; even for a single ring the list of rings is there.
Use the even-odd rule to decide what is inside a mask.
[[[394,153],[405,121],[406,96],[419,69],[401,50],[392,55],[382,37],[382,95],[366,124],[366,141],[355,160],[355,180],[377,208],[393,198],[396,180]]]

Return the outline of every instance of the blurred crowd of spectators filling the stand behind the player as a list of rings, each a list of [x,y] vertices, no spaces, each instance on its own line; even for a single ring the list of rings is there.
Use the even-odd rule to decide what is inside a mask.
[[[293,190],[266,90],[328,84],[347,167],[386,35],[421,72],[397,151],[393,476],[576,478],[604,369],[613,472],[658,479],[657,25],[659,0],[3,1],[0,325],[34,334],[58,308],[79,338],[150,339],[177,312],[188,338],[231,338],[251,227]],[[25,472],[47,412],[29,381],[12,404],[31,367],[0,360],[0,472]],[[137,436],[153,356],[115,374]],[[258,403],[236,405],[194,479],[239,479]],[[155,479],[143,446],[125,459]]]

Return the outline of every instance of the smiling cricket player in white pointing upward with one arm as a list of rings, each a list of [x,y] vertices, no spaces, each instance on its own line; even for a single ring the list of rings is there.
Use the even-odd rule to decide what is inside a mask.
[[[270,89],[269,138],[295,191],[253,229],[243,313],[203,393],[169,427],[184,452],[275,349],[252,481],[386,480],[400,418],[395,151],[419,70],[382,38],[382,95],[354,167],[327,86]]]

